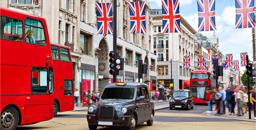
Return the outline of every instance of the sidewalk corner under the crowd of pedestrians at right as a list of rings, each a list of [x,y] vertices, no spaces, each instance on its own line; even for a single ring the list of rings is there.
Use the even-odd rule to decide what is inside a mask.
[[[214,109],[214,107],[213,107]],[[251,121],[251,122],[256,122],[256,120],[254,120],[254,113],[251,113],[251,119],[249,119],[249,112],[247,111],[246,113],[244,113],[244,116],[237,116],[237,115],[229,115],[229,109],[226,108],[226,114],[220,115],[220,116],[215,116],[214,114],[217,113],[217,111],[213,110],[212,113],[206,113],[206,116],[210,116],[210,117],[216,117],[216,118],[224,118],[224,119],[233,119],[233,120],[241,120],[241,121]],[[202,114],[204,114],[202,113]],[[235,110],[235,113],[237,113],[237,110]]]

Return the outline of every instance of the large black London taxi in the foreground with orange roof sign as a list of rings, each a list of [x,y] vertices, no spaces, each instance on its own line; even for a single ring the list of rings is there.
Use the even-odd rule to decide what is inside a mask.
[[[153,124],[155,106],[147,84],[117,82],[105,86],[97,103],[88,108],[87,122],[90,130],[98,126],[126,127],[134,130],[135,125]]]

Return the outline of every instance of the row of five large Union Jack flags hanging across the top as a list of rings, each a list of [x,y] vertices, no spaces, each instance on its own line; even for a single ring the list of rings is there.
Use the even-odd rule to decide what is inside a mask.
[[[235,0],[236,28],[252,28],[254,0]],[[146,33],[145,2],[128,2],[130,34]],[[198,31],[217,30],[215,24],[215,0],[197,0]],[[96,3],[98,17],[97,34],[113,34],[112,3]],[[162,33],[181,32],[179,0],[162,0]],[[231,65],[228,61],[227,65]]]

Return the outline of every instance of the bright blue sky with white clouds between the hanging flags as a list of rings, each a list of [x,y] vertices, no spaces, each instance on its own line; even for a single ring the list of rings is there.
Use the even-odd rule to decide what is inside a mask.
[[[151,9],[162,9],[161,0],[149,0]],[[254,3],[255,5],[255,3]],[[198,8],[196,0],[180,0],[179,12],[182,17],[198,31]],[[233,54],[233,60],[239,60],[240,53],[248,52],[249,59],[252,61],[252,34],[251,28],[235,29],[236,7],[234,0],[215,1],[215,35],[219,38],[218,49],[225,54]],[[201,31],[206,37],[212,37],[213,31]],[[243,73],[245,66],[240,66]]]

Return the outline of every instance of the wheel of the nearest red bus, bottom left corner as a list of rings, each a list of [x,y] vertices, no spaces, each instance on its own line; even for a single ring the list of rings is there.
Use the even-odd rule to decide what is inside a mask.
[[[19,122],[18,111],[13,106],[6,107],[1,113],[1,129],[16,129]]]

